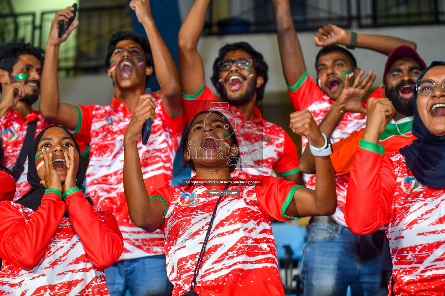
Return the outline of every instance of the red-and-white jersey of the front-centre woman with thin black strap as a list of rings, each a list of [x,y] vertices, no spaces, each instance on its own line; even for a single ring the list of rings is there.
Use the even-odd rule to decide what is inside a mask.
[[[192,177],[191,182],[202,179]],[[256,181],[258,185],[247,182]],[[242,181],[235,178],[234,182]],[[285,210],[299,185],[262,175],[231,185],[234,196],[223,196],[204,253],[195,291],[200,295],[283,296],[271,221],[291,220]],[[240,183],[238,183],[240,184]],[[194,268],[219,196],[208,194],[224,186],[193,185],[155,190],[150,198],[166,205],[167,275],[173,295],[190,288]]]

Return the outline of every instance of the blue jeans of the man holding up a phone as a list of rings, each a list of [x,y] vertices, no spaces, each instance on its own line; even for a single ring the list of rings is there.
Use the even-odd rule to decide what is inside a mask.
[[[110,296],[171,296],[164,255],[116,261],[105,269]]]

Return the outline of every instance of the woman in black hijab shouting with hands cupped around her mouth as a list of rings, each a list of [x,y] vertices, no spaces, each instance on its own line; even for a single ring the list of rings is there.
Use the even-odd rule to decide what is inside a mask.
[[[122,235],[114,216],[93,209],[79,190],[79,154],[60,126],[42,130],[30,147],[31,189],[0,202],[1,295],[109,295],[103,269],[121,255]]]

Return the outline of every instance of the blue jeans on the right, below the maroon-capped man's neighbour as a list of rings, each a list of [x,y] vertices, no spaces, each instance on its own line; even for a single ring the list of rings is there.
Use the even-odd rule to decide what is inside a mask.
[[[383,231],[358,236],[347,227],[312,223],[301,259],[304,296],[387,295],[382,280]]]

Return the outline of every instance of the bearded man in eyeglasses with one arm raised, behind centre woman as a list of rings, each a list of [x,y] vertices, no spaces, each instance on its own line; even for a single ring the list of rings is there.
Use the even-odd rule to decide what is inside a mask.
[[[184,114],[190,121],[202,110],[227,114],[240,144],[242,170],[232,175],[247,178],[269,176],[272,171],[289,181],[302,184],[297,149],[279,126],[263,119],[255,103],[263,99],[267,83],[267,63],[263,55],[246,42],[221,47],[210,78],[220,99],[204,79],[204,67],[197,45],[210,0],[196,0],[178,36],[179,76]]]

